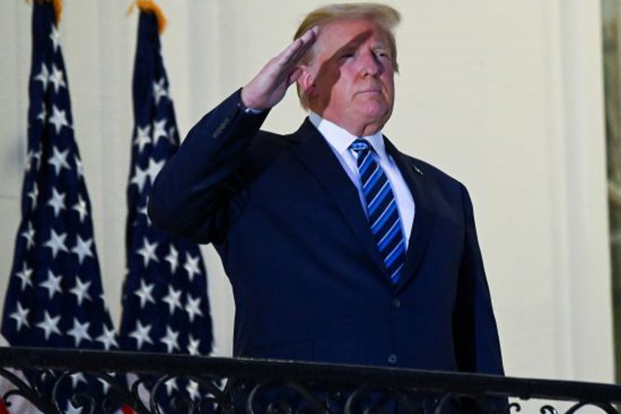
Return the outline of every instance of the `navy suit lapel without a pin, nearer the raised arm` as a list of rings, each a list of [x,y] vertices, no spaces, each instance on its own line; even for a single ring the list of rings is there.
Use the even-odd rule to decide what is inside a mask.
[[[362,246],[382,272],[382,277],[388,281],[386,269],[360,204],[357,188],[343,170],[343,166],[326,140],[308,118],[295,132],[293,139],[300,144],[293,150],[293,155],[315,176],[319,184],[335,201],[345,221],[351,226]]]

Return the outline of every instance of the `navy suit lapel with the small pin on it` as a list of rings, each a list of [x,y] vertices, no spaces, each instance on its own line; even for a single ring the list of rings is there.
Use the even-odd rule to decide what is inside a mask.
[[[436,216],[433,213],[433,193],[429,190],[426,177],[421,170],[411,164],[393,144],[384,137],[386,151],[395,160],[414,199],[414,224],[411,228],[410,242],[406,253],[405,264],[397,288],[402,288],[415,274],[422,263],[424,253],[435,227]]]

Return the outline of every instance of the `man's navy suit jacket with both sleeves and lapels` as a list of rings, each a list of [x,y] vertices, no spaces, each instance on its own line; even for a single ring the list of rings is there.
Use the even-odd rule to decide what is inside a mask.
[[[357,190],[308,119],[259,130],[239,91],[189,132],[150,196],[154,224],[214,244],[235,356],[502,374],[466,188],[386,139],[415,201],[393,286]]]

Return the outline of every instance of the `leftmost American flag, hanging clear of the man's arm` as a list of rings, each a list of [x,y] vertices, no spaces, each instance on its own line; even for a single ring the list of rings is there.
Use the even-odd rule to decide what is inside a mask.
[[[2,333],[17,346],[115,349],[55,7],[35,1],[32,8],[28,155]],[[76,374],[68,386],[92,393],[89,383]]]

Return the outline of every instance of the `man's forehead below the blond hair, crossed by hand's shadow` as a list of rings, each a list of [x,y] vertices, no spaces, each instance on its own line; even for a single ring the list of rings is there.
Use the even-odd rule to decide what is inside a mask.
[[[346,45],[359,46],[371,41],[373,45],[388,46],[388,34],[379,23],[367,19],[341,19],[326,24],[319,32],[320,50]]]

